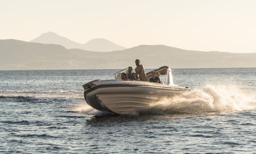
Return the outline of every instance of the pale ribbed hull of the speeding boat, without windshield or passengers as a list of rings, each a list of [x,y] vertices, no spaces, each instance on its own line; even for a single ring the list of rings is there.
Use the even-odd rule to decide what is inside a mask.
[[[85,89],[86,102],[94,109],[116,114],[136,114],[163,99],[172,98],[190,89],[142,82],[98,84]]]

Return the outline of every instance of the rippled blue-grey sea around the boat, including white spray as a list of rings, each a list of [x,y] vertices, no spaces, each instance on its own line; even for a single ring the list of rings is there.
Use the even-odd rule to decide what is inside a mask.
[[[192,92],[137,115],[88,106],[118,71],[0,71],[0,154],[256,153],[256,68],[173,69]]]

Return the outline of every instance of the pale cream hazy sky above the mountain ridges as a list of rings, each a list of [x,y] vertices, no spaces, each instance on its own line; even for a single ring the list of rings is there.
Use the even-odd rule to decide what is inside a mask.
[[[256,0],[0,0],[0,39],[49,31],[79,43],[256,53]]]

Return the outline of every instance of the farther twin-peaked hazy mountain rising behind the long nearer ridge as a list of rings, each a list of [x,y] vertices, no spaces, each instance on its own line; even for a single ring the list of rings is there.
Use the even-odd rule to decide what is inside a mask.
[[[62,45],[67,49],[82,49],[99,52],[109,52],[126,49],[125,47],[116,45],[113,42],[103,38],[95,38],[85,44],[80,44],[63,36],[59,36],[54,32],[43,33],[41,36],[38,36],[30,42]]]

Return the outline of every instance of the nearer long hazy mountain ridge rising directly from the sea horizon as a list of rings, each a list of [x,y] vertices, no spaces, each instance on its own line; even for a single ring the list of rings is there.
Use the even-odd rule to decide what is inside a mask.
[[[256,53],[189,51],[166,45],[139,45],[112,52],[66,49],[61,45],[0,40],[0,70],[256,67]]]

